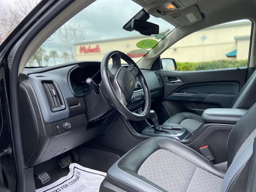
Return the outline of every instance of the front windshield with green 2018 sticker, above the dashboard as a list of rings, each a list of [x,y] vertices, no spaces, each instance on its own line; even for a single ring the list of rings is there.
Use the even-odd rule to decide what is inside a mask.
[[[150,16],[159,34],[140,35],[123,26],[140,10],[131,0],[97,0],[60,27],[33,54],[26,67],[43,67],[74,61],[101,61],[110,50],[119,50],[138,62],[175,27]],[[125,63],[124,63],[125,64]]]

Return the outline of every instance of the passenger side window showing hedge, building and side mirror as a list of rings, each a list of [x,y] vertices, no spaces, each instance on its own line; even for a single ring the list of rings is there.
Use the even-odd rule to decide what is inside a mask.
[[[206,28],[181,39],[161,54],[162,67],[178,71],[247,66],[251,21],[240,20]],[[168,63],[168,64],[167,64]]]

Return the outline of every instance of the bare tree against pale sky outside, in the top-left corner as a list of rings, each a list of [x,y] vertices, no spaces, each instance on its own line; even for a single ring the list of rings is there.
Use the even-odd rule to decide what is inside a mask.
[[[40,0],[0,1],[0,44]]]

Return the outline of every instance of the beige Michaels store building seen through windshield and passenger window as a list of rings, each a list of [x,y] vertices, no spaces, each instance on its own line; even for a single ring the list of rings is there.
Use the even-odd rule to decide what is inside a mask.
[[[174,58],[177,62],[248,59],[250,33],[251,21],[238,21],[209,27],[181,39],[167,49],[161,58]],[[139,49],[136,44],[145,38],[145,36],[135,36],[75,44],[76,60],[101,61],[110,50],[129,53]],[[153,35],[147,39],[161,40]],[[141,57],[133,59],[137,62]]]

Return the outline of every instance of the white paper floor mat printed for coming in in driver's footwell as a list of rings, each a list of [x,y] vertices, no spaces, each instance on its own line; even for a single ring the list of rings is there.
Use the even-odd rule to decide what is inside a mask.
[[[92,170],[76,163],[69,165],[69,174],[36,192],[96,192],[106,173]]]

